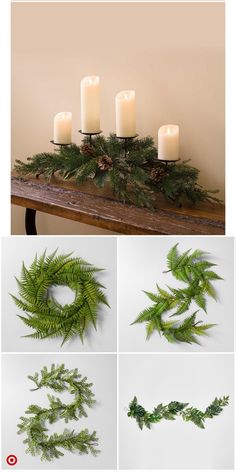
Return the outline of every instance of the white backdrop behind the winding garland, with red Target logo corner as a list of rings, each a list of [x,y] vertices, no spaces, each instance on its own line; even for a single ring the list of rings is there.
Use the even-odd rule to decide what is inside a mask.
[[[87,408],[87,418],[79,421],[58,421],[48,425],[49,434],[60,433],[65,427],[81,431],[88,428],[90,432],[97,431],[99,449],[102,451],[97,457],[92,455],[80,456],[77,453],[65,451],[64,457],[53,462],[41,462],[40,457],[32,457],[25,454],[24,434],[17,435],[17,424],[20,416],[30,404],[47,406],[47,394],[60,397],[66,403],[73,401],[73,396],[65,393],[57,394],[50,389],[40,389],[30,392],[34,388],[28,375],[51,363],[65,363],[66,368],[78,368],[79,373],[87,376],[94,385],[92,390],[97,401],[92,408]],[[116,467],[116,357],[104,354],[33,354],[33,355],[3,355],[3,444],[2,467],[7,466],[5,457],[14,453],[18,457],[18,463],[14,469],[112,469]],[[14,451],[14,452],[13,452]],[[62,451],[64,452],[64,451]]]

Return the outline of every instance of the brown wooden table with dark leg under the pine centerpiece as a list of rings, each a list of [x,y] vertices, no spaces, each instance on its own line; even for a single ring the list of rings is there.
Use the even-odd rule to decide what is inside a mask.
[[[158,199],[156,211],[117,201],[106,189],[76,187],[53,179],[12,177],[11,202],[26,208],[26,234],[37,234],[36,211],[98,226],[121,234],[225,234],[223,205],[175,208]]]

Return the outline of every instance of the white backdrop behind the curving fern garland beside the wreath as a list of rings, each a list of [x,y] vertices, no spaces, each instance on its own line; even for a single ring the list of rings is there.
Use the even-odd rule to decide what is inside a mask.
[[[207,298],[207,315],[200,310],[198,319],[204,323],[216,323],[208,336],[201,338],[201,345],[171,344],[154,333],[146,341],[145,323],[130,326],[138,314],[152,305],[143,290],[156,292],[156,283],[161,288],[167,285],[185,287],[168,270],[166,255],[179,242],[179,252],[187,249],[209,251],[208,260],[217,264],[215,270],[224,280],[213,281],[219,300]],[[149,237],[122,238],[119,240],[119,333],[121,351],[233,351],[233,238],[225,237]],[[198,309],[192,303],[181,320]]]

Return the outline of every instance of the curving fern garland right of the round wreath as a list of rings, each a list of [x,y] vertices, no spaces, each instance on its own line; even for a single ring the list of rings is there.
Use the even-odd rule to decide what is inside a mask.
[[[200,309],[207,312],[207,297],[216,300],[216,292],[212,282],[222,280],[222,278],[212,271],[211,268],[216,264],[209,262],[206,259],[206,254],[206,252],[199,249],[192,252],[189,249],[180,254],[178,243],[170,249],[167,254],[168,270],[164,273],[171,272],[177,280],[185,282],[186,287],[178,289],[168,287],[167,291],[157,285],[157,293],[144,291],[154,304],[149,308],[145,308],[132,324],[146,323],[147,339],[155,331],[158,331],[171,343],[198,344],[199,341],[196,336],[206,335],[207,331],[215,326],[215,324],[202,324],[202,321],[197,321],[199,310],[185,318],[182,323],[176,321],[176,319],[170,319],[173,316],[186,313],[193,301]],[[173,309],[175,312],[164,321],[163,315],[171,313]]]

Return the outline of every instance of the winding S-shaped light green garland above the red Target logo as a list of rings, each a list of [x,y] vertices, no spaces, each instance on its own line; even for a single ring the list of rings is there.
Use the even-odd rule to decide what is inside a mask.
[[[60,398],[53,395],[47,395],[49,400],[48,408],[42,408],[39,405],[30,405],[26,410],[27,416],[21,416],[21,422],[18,426],[18,434],[26,434],[24,444],[27,445],[26,453],[36,456],[41,455],[41,460],[52,461],[59,459],[64,454],[60,449],[70,452],[78,451],[79,454],[89,454],[96,456],[100,451],[97,449],[98,438],[96,431],[89,433],[88,429],[75,432],[64,429],[63,433],[55,433],[49,436],[45,427],[45,422],[50,424],[62,419],[66,423],[70,420],[79,420],[81,417],[87,417],[85,407],[91,408],[95,402],[94,394],[91,391],[92,383],[87,382],[87,377],[82,377],[78,369],[66,369],[64,364],[51,365],[48,370],[43,367],[40,374],[37,372],[34,376],[29,375],[36,388],[31,391],[46,387],[55,392],[67,391],[74,395],[72,403],[62,403]]]

